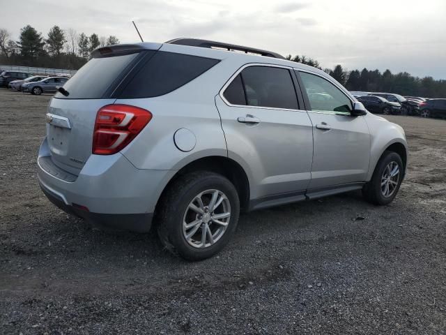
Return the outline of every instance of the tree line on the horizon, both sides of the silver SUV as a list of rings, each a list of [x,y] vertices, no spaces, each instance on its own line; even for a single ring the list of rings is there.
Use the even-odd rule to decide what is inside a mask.
[[[18,40],[13,40],[6,29],[0,29],[0,64],[36,66],[44,68],[66,68],[77,70],[88,61],[97,47],[118,44],[116,36],[78,34],[74,29],[63,30],[59,26],[49,29],[44,37],[27,25],[20,30]],[[291,61],[314,66],[322,70],[315,59],[307,56],[289,56]],[[414,77],[407,72],[392,73],[385,70],[346,70],[341,65],[325,68],[335,80],[351,91],[383,91],[405,96],[446,98],[446,80],[433,77]]]

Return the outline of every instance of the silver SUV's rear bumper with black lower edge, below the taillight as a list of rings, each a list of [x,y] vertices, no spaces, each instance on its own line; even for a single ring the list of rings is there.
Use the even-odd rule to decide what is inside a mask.
[[[51,158],[42,159],[49,155],[45,139],[39,151],[38,180],[51,202],[96,225],[137,232],[150,230],[157,200],[175,173],[140,170],[122,154],[114,154],[91,155],[75,176],[56,165],[49,167]]]

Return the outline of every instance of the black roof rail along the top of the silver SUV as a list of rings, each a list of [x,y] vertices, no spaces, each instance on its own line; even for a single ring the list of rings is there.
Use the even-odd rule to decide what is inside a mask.
[[[174,38],[173,40],[168,40],[167,42],[164,43],[189,45],[191,47],[208,47],[211,49],[245,52],[245,54],[249,53],[249,54],[257,54],[259,56],[285,59],[285,57],[283,57],[282,54],[277,54],[275,52],[260,50],[254,47],[243,47],[242,45],[215,42],[214,40],[199,40],[197,38]]]

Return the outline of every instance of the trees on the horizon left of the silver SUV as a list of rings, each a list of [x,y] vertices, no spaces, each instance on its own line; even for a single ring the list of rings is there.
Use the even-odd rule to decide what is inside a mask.
[[[52,27],[47,36],[43,36],[27,25],[20,30],[18,40],[13,40],[7,29],[0,29],[0,64],[77,70],[97,47],[118,43],[113,35],[108,38],[94,33],[87,36],[59,26]]]

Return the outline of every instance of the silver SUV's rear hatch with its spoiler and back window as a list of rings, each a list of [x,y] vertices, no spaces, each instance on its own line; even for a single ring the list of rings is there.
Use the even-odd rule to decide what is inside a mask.
[[[115,91],[132,69],[160,46],[145,43],[96,50],[63,86],[66,94],[55,94],[47,113],[47,142],[54,165],[79,174],[92,152],[98,110],[116,101]]]

